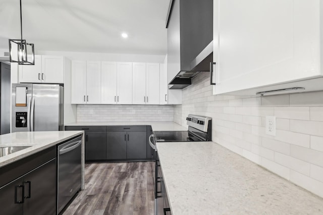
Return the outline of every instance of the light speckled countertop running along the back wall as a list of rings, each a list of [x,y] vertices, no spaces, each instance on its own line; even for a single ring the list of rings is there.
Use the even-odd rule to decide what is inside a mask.
[[[93,125],[151,125],[153,131],[181,131],[187,127],[181,126],[173,121],[141,121],[141,122],[74,122],[66,126],[93,126]]]

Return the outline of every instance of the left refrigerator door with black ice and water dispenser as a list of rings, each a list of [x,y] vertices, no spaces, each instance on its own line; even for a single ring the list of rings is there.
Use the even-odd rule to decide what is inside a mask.
[[[32,84],[12,84],[11,132],[30,131],[31,94]]]

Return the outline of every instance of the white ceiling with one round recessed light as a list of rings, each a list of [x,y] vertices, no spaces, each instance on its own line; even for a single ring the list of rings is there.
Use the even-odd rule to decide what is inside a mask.
[[[167,53],[170,0],[22,0],[23,39],[37,50]],[[122,38],[123,32],[128,38]],[[19,0],[0,0],[0,48],[20,39]]]

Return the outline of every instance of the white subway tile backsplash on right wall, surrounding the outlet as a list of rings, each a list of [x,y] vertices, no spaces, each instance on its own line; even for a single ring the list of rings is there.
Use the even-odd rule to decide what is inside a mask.
[[[183,89],[174,121],[188,113],[212,117],[212,140],[323,197],[323,91],[267,97],[212,95],[209,74]],[[265,116],[277,134],[265,134]]]

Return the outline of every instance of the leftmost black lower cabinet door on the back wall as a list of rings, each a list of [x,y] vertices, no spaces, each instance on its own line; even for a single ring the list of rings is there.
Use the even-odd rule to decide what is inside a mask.
[[[106,132],[85,132],[85,160],[106,159]]]

